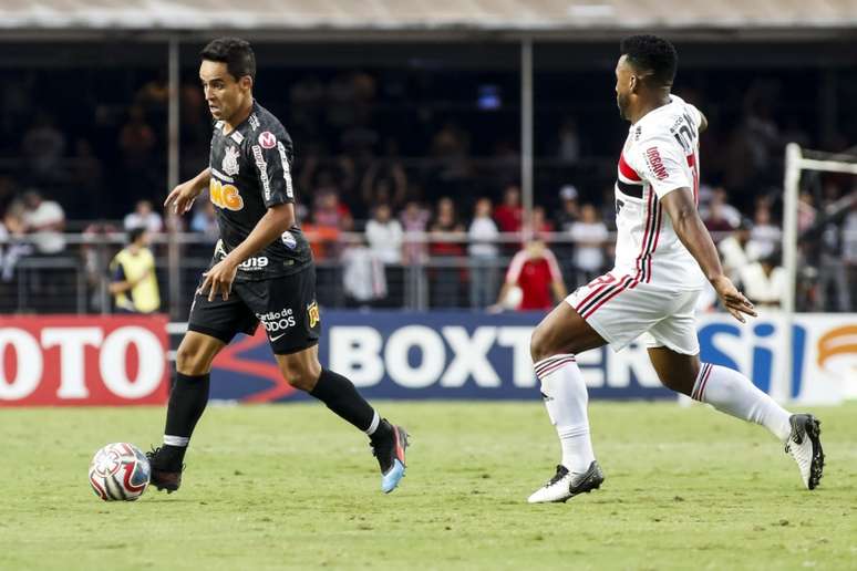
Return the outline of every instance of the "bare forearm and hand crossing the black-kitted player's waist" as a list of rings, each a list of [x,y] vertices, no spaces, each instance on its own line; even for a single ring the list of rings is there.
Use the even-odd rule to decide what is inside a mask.
[[[228,299],[233,290],[233,281],[235,281],[238,266],[273,240],[277,240],[282,236],[282,232],[293,225],[293,204],[286,203],[268,208],[268,211],[256,222],[247,238],[230,251],[226,258],[215,263],[210,270],[203,274],[205,280],[199,291],[208,293],[208,301],[213,301],[218,293],[224,300]]]

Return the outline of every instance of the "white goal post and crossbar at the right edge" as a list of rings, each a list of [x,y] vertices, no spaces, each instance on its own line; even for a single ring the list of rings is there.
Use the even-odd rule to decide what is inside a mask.
[[[783,295],[783,325],[785,326],[786,352],[791,354],[794,346],[794,321],[797,292],[797,210],[801,191],[801,175],[804,170],[822,173],[844,173],[857,175],[857,156],[837,155],[801,148],[797,143],[786,145],[785,179],[783,186],[783,269],[786,272],[786,291]],[[848,203],[850,203],[849,200]],[[785,360],[784,383],[775,388],[773,395],[777,401],[788,399],[788,384],[793,377],[793,363]]]

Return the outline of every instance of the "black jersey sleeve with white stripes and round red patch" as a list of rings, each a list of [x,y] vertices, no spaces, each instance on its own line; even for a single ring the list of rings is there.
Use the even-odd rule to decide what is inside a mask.
[[[270,208],[295,203],[291,183],[291,142],[271,131],[262,131],[249,146],[250,160],[255,165],[265,206]]]

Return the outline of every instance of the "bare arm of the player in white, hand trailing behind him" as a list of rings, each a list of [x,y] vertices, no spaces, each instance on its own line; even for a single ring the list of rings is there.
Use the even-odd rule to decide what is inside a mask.
[[[700,264],[702,272],[717,292],[717,297],[726,310],[742,323],[746,321],[744,315],[755,318],[756,311],[753,309],[753,304],[723,273],[717,249],[696,211],[691,189],[679,188],[668,193],[661,198],[661,205],[670,215],[675,235]]]

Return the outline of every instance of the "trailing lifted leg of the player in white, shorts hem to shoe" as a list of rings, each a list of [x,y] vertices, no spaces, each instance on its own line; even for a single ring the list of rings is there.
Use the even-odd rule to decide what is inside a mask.
[[[722,413],[767,428],[801,469],[804,485],[813,489],[824,469],[819,423],[808,414],[791,414],[753,382],[732,368],[701,363],[695,323],[690,311],[658,323],[649,359],[664,386],[708,403]]]

